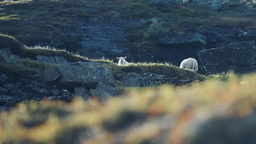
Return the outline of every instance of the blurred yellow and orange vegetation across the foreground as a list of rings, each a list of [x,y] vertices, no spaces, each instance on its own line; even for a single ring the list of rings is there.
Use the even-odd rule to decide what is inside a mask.
[[[130,89],[103,104],[21,103],[1,112],[0,143],[255,143],[256,74],[229,77]]]

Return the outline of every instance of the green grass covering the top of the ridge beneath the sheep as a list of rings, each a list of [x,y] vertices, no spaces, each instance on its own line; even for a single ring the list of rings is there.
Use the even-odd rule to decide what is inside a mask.
[[[0,47],[9,48],[10,52],[21,57],[19,63],[8,63],[4,62],[3,59],[0,63],[1,72],[14,74],[16,76],[30,76],[32,74],[38,74],[39,70],[45,67],[54,67],[54,64],[40,63],[36,60],[38,55],[42,56],[59,56],[64,57],[69,62],[101,62],[106,63],[105,67],[109,68],[116,80],[121,80],[127,73],[131,72],[143,72],[149,71],[156,74],[164,74],[167,77],[177,77],[178,79],[190,79],[190,80],[204,80],[205,77],[196,74],[193,71],[179,69],[170,64],[160,64],[160,63],[137,63],[131,64],[125,67],[119,67],[117,64],[113,64],[113,61],[101,60],[101,59],[88,59],[79,55],[74,55],[73,53],[66,52],[65,50],[53,50],[47,47],[26,47],[22,45],[18,40],[9,35],[0,34]],[[5,59],[8,59],[7,57]],[[27,73],[24,73],[27,71]]]

